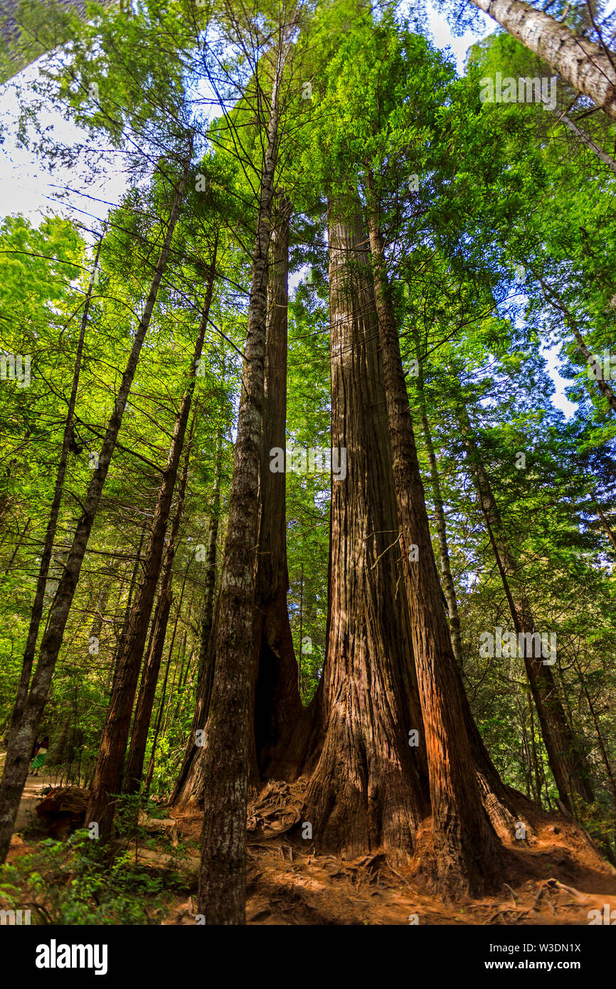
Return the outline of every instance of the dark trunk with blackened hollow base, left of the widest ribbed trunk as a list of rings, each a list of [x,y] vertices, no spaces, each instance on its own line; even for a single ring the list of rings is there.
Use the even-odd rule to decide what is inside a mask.
[[[257,662],[253,725],[255,767],[258,777],[262,778],[268,775],[286,777],[285,752],[302,710],[298,664],[287,608],[286,475],[270,470],[270,450],[284,450],[286,446],[289,224],[292,210],[291,202],[284,193],[276,197],[275,204],[268,278],[261,516],[255,576],[254,641]]]

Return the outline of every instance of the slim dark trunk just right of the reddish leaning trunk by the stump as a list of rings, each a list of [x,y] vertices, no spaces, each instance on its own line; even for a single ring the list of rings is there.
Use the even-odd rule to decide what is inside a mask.
[[[173,516],[171,532],[169,534],[169,542],[165,551],[165,560],[162,568],[158,600],[156,601],[156,607],[154,609],[152,635],[150,638],[149,650],[147,652],[147,659],[141,674],[136,709],[132,721],[131,746],[129,748],[123,785],[123,790],[125,793],[135,793],[138,790],[141,782],[141,774],[143,772],[143,759],[145,757],[147,733],[149,731],[149,723],[152,716],[154,696],[156,694],[156,684],[158,683],[158,674],[160,672],[160,661],[162,659],[162,652],[167,634],[167,625],[169,623],[169,613],[171,611],[173,561],[175,560],[178,532],[184,510],[184,495],[186,493],[188,463],[190,460],[194,425],[195,418],[193,416],[186,453],[184,455],[184,470],[182,471],[182,478],[178,488],[175,515]]]

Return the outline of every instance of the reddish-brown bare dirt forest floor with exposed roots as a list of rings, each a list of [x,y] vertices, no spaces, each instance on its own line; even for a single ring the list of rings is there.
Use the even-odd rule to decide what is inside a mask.
[[[52,777],[29,776],[9,861],[36,851],[37,837],[27,833],[24,841],[17,832],[27,828],[52,783]],[[447,904],[430,888],[429,823],[418,835],[417,854],[403,865],[382,852],[353,859],[317,854],[300,835],[305,786],[304,779],[272,781],[249,807],[248,924],[585,926],[590,910],[603,914],[606,904],[616,910],[616,869],[561,815],[525,809],[536,835],[507,851],[506,883],[495,895]],[[175,820],[185,851],[185,892],[173,894],[163,923],[194,925],[203,817],[162,807],[161,812]],[[139,847],[139,864],[176,869],[163,845],[156,851]]]

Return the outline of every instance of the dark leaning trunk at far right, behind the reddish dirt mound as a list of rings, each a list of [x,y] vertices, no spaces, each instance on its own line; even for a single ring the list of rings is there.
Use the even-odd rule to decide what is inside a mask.
[[[468,454],[469,471],[474,479],[484,515],[487,534],[503,585],[516,635],[534,636],[538,632],[530,602],[518,577],[518,565],[506,540],[500,512],[492,494],[484,464],[473,438],[466,407],[460,409],[462,433]],[[544,662],[541,648],[533,637],[530,648],[524,640],[524,667],[539,717],[541,734],[548,753],[559,796],[572,810],[572,793],[585,801],[592,800],[592,790],[585,761],[572,735],[558,685],[551,666]]]

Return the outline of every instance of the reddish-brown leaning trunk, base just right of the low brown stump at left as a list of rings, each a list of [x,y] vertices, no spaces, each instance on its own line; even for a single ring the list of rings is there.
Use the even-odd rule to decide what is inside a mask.
[[[110,838],[115,807],[113,795],[120,792],[123,762],[131,729],[134,693],[141,667],[156,584],[158,584],[158,578],[160,577],[165,534],[171,511],[171,502],[177,480],[180,457],[184,446],[186,427],[193,401],[198,362],[201,359],[204,338],[210,318],[215,265],[216,250],[206,290],[197,342],[195,344],[190,378],[176,415],[167,465],[162,484],[158,489],[154,518],[143,557],[143,576],[134,595],[129,628],[123,644],[112,689],[107,721],[103,729],[96,771],[94,773],[90,803],[86,813],[87,822],[95,821],[98,824],[99,840],[101,842],[106,842]]]

